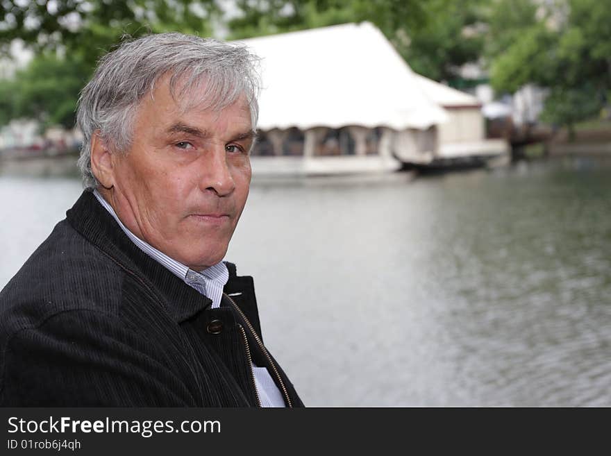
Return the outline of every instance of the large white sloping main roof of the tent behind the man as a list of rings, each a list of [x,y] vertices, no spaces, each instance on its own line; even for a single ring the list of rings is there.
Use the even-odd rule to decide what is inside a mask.
[[[261,60],[259,128],[428,128],[447,115],[369,22],[242,40]]]

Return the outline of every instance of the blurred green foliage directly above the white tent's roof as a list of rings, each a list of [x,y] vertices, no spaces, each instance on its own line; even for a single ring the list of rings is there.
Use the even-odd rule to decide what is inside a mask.
[[[420,74],[441,80],[478,59],[480,33],[464,34],[478,24],[482,0],[238,0],[240,16],[228,23],[231,38],[241,39],[347,22],[369,21]]]

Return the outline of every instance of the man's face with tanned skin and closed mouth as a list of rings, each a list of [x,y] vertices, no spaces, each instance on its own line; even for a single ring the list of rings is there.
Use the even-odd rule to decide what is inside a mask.
[[[137,110],[127,153],[103,192],[132,233],[191,269],[221,261],[248,197],[251,114],[244,99],[184,112],[167,78]]]

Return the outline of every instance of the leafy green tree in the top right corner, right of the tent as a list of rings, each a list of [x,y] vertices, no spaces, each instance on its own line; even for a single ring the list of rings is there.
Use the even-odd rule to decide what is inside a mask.
[[[527,83],[549,88],[542,118],[567,126],[574,137],[576,121],[598,114],[608,103],[611,2],[558,0],[546,10],[530,8],[533,11],[539,18],[525,21],[518,35],[505,40],[499,34],[498,53],[489,53],[492,86],[510,93]],[[504,49],[501,42],[506,42]]]

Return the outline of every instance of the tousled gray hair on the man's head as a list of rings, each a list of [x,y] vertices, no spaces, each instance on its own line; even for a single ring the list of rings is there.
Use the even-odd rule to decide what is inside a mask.
[[[255,128],[260,90],[256,62],[244,45],[182,33],[147,35],[103,56],[78,99],[76,125],[83,133],[83,146],[77,163],[83,186],[99,185],[91,171],[94,132],[100,131],[108,147],[126,151],[137,108],[162,76],[169,75],[170,93],[185,110],[196,105],[220,110],[245,96]],[[203,96],[191,96],[198,90]]]

